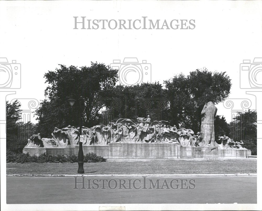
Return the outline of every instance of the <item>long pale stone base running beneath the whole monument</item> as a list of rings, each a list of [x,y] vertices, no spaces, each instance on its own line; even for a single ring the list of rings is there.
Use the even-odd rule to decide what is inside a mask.
[[[75,148],[24,148],[23,153],[39,156],[78,155],[79,146]],[[247,158],[248,149],[218,149],[217,147],[182,147],[178,144],[164,143],[109,143],[104,146],[83,146],[84,154],[94,152],[105,158]]]

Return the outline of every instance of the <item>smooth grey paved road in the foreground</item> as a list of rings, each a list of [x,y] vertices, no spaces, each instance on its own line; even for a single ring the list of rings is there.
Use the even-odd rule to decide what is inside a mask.
[[[85,177],[83,188],[74,177],[7,177],[7,203],[257,203],[256,180],[256,176]]]

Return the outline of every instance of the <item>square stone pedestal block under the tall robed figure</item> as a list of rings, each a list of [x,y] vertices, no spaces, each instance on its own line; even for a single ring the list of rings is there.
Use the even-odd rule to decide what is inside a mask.
[[[194,158],[218,158],[218,147],[195,147]]]

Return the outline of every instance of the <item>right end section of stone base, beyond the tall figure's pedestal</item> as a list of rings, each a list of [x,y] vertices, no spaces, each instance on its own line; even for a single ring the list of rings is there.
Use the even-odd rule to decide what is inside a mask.
[[[219,158],[247,158],[251,155],[249,149],[219,149]]]

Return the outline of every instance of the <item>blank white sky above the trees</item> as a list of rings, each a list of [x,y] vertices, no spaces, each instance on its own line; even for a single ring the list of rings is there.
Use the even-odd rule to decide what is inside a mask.
[[[262,57],[260,1],[18,1],[15,5],[2,1],[1,5],[5,7],[0,7],[0,57],[21,64],[21,88],[6,99],[23,98],[22,109],[34,111],[37,105],[29,109],[27,102],[44,99],[47,84],[43,75],[59,64],[89,66],[97,61],[110,65],[125,57],[150,63],[152,82],[163,83],[176,74],[188,75],[203,67],[226,71],[232,82],[227,101],[234,107],[219,103],[217,114],[230,122],[232,110],[243,110],[245,99],[248,104],[244,107],[255,109],[254,96],[245,93],[248,85],[240,88],[240,80],[248,80],[248,71],[241,71],[240,64]],[[141,20],[147,16],[160,23],[193,19],[195,28],[73,29],[74,16],[90,20]],[[257,78],[261,81],[262,72]],[[36,123],[33,115],[31,121]]]

